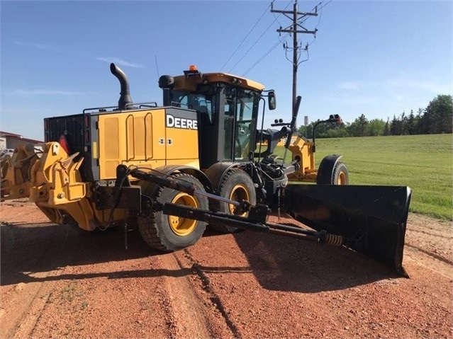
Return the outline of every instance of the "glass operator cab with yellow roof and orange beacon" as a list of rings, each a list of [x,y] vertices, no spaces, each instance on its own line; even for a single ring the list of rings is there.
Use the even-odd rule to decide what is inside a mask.
[[[196,110],[201,168],[223,161],[253,161],[264,86],[231,74],[201,74],[192,66],[184,76],[162,76],[160,87],[164,106]]]

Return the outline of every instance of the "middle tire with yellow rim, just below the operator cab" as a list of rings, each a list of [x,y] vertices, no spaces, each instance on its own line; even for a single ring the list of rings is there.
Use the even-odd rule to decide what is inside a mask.
[[[230,200],[242,202],[247,200],[252,205],[257,203],[257,193],[255,192],[255,185],[252,178],[242,171],[240,168],[233,168],[228,171],[225,177],[220,183],[220,190],[218,195],[225,197]],[[236,206],[233,204],[227,204],[226,202],[216,201],[214,208],[217,212],[223,212],[228,214],[240,215],[247,217],[248,212],[237,211]],[[237,227],[225,226],[221,224],[210,224],[213,229],[222,233],[234,233],[237,231]]]

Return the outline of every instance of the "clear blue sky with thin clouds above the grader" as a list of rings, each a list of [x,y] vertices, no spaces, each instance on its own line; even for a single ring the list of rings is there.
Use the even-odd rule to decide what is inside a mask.
[[[109,63],[125,71],[135,102],[157,101],[162,74],[189,64],[273,88],[291,119],[289,18],[271,1],[1,1],[0,130],[43,139],[43,118],[118,103]],[[298,1],[309,12],[320,1]],[[293,1],[274,1],[291,10]],[[299,116],[340,114],[387,120],[452,94],[451,1],[325,0],[299,34],[308,60],[298,67]],[[236,51],[236,52],[235,52]],[[301,60],[307,54],[301,54]],[[298,120],[300,123],[302,119]]]

